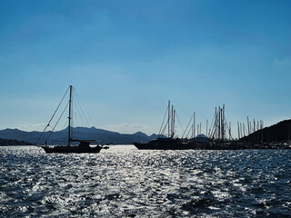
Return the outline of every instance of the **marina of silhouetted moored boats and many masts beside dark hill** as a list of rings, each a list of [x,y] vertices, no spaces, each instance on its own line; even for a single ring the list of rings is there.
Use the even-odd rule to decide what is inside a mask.
[[[170,109],[172,108],[172,109]],[[201,134],[201,124],[196,127],[196,113],[191,117],[189,124],[193,122],[191,128],[187,130],[189,124],[187,124],[186,130],[181,138],[175,136],[175,115],[176,110],[174,106],[168,102],[167,112],[164,117],[164,121],[160,128],[160,133],[157,139],[146,143],[133,143],[139,150],[243,150],[243,149],[291,149],[290,135],[291,135],[291,121],[285,121],[286,124],[281,132],[285,132],[285,140],[282,141],[270,140],[264,141],[264,128],[263,122],[260,122],[260,128],[257,127],[254,119],[254,129],[252,132],[248,131],[248,134],[243,135],[239,130],[238,124],[238,139],[234,139],[231,132],[231,123],[226,122],[225,104],[222,107],[217,107],[212,124],[209,129],[206,125],[206,135]],[[165,118],[167,120],[165,122]],[[166,124],[165,124],[166,123]],[[283,122],[284,123],[284,122]],[[164,125],[165,124],[165,125]],[[207,122],[206,122],[207,124]],[[250,123],[247,117],[248,130],[251,129]],[[281,124],[281,123],[280,123]],[[282,124],[281,124],[282,125]],[[200,127],[200,134],[196,135]],[[271,128],[271,127],[270,127]],[[272,127],[273,129],[276,127]],[[168,131],[165,134],[165,131]],[[184,138],[186,132],[191,132],[192,137]],[[266,131],[265,131],[266,132]],[[245,131],[244,131],[245,133]],[[268,130],[268,134],[270,131]],[[282,133],[281,133],[282,134]],[[262,135],[262,136],[261,136]],[[288,138],[286,137],[288,136]]]

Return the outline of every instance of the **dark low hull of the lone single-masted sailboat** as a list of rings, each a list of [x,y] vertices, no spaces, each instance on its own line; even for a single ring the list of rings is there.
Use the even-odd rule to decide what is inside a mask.
[[[75,153],[75,154],[83,154],[83,153],[99,153],[102,149],[101,146],[95,147],[79,147],[79,146],[41,146],[46,154],[51,153],[61,153],[61,154],[68,154],[68,153]]]

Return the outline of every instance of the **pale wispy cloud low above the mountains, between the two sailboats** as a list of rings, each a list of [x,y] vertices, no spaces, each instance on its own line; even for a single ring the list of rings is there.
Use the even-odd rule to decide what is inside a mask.
[[[107,124],[102,126],[102,128],[121,134],[134,134],[138,131],[152,134],[150,127],[146,124]]]

